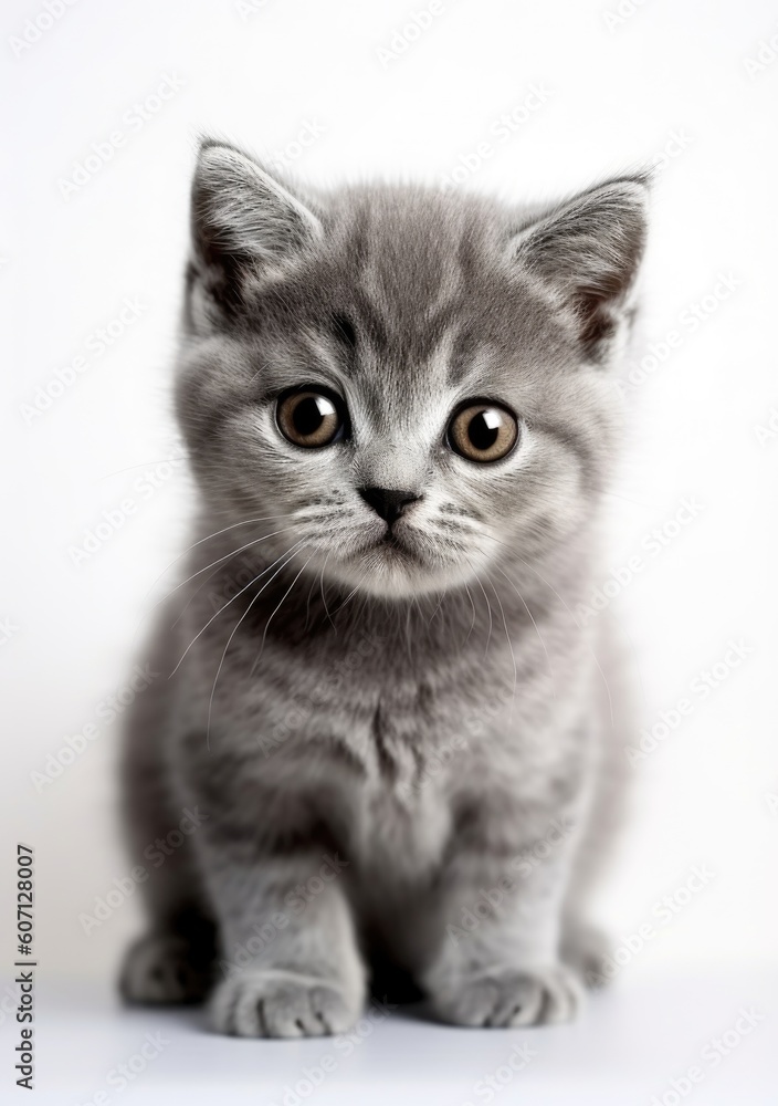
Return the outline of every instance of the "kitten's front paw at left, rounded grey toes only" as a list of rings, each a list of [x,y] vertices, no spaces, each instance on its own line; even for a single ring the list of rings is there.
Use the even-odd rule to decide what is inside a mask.
[[[211,1020],[219,1033],[233,1036],[323,1036],[350,1029],[361,1000],[333,980],[254,968],[220,983]]]

